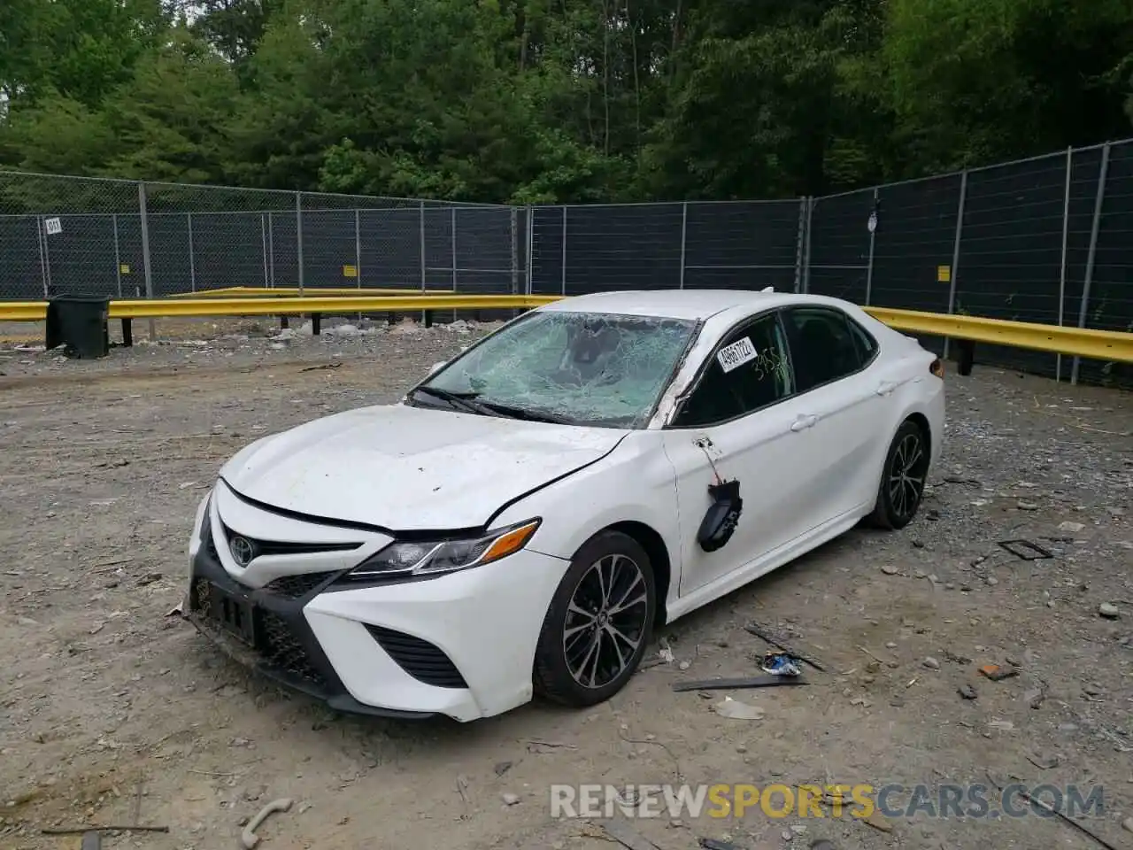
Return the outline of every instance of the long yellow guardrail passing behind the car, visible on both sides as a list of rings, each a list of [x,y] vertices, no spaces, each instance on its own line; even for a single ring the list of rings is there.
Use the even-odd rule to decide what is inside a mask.
[[[215,290],[213,290],[215,291]],[[257,290],[258,292],[271,290]],[[279,291],[279,290],[275,290]],[[298,290],[293,290],[298,291]],[[162,316],[253,316],[322,313],[408,313],[436,309],[530,309],[560,300],[559,296],[527,295],[350,295],[282,296],[264,298],[207,297],[110,301],[111,318],[157,318]],[[373,290],[370,290],[373,291]],[[390,290],[383,290],[390,291]],[[1133,333],[1096,331],[1000,318],[949,316],[911,309],[866,307],[872,316],[900,331],[934,337],[990,342],[1014,348],[1073,355],[1098,360],[1133,363]],[[46,318],[46,301],[0,301],[0,321],[36,322]]]

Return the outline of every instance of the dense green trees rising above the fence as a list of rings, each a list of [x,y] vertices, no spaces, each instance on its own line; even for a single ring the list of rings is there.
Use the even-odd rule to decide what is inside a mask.
[[[3,0],[0,167],[774,197],[1133,135],[1130,0]]]

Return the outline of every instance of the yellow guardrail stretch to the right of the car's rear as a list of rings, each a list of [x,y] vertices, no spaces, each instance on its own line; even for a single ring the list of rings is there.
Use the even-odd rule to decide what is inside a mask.
[[[1033,322],[1008,322],[1003,318],[949,316],[914,309],[863,307],[867,313],[897,331],[951,337],[973,342],[1029,348],[1034,351],[1076,355],[1098,360],[1133,363],[1133,333],[1059,328]]]

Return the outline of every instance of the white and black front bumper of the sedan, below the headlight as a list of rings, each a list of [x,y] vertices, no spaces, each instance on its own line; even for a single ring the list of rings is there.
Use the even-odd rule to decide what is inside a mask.
[[[539,630],[568,562],[521,551],[403,584],[300,573],[253,588],[207,525],[190,556],[188,619],[238,662],[355,714],[470,721],[531,698]],[[233,613],[237,623],[233,628]]]

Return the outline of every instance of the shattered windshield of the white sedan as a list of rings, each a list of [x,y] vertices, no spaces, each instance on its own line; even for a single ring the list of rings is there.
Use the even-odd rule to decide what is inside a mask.
[[[442,368],[411,401],[637,427],[653,411],[696,329],[695,322],[675,318],[528,313]]]

